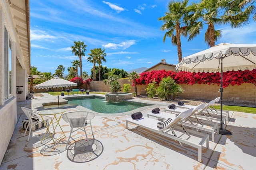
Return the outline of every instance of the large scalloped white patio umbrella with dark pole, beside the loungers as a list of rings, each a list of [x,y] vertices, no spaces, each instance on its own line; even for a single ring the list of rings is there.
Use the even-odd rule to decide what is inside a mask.
[[[186,72],[220,72],[220,129],[222,135],[232,133],[222,128],[222,72],[253,70],[256,68],[256,44],[221,43],[184,57],[176,65],[177,70]]]

